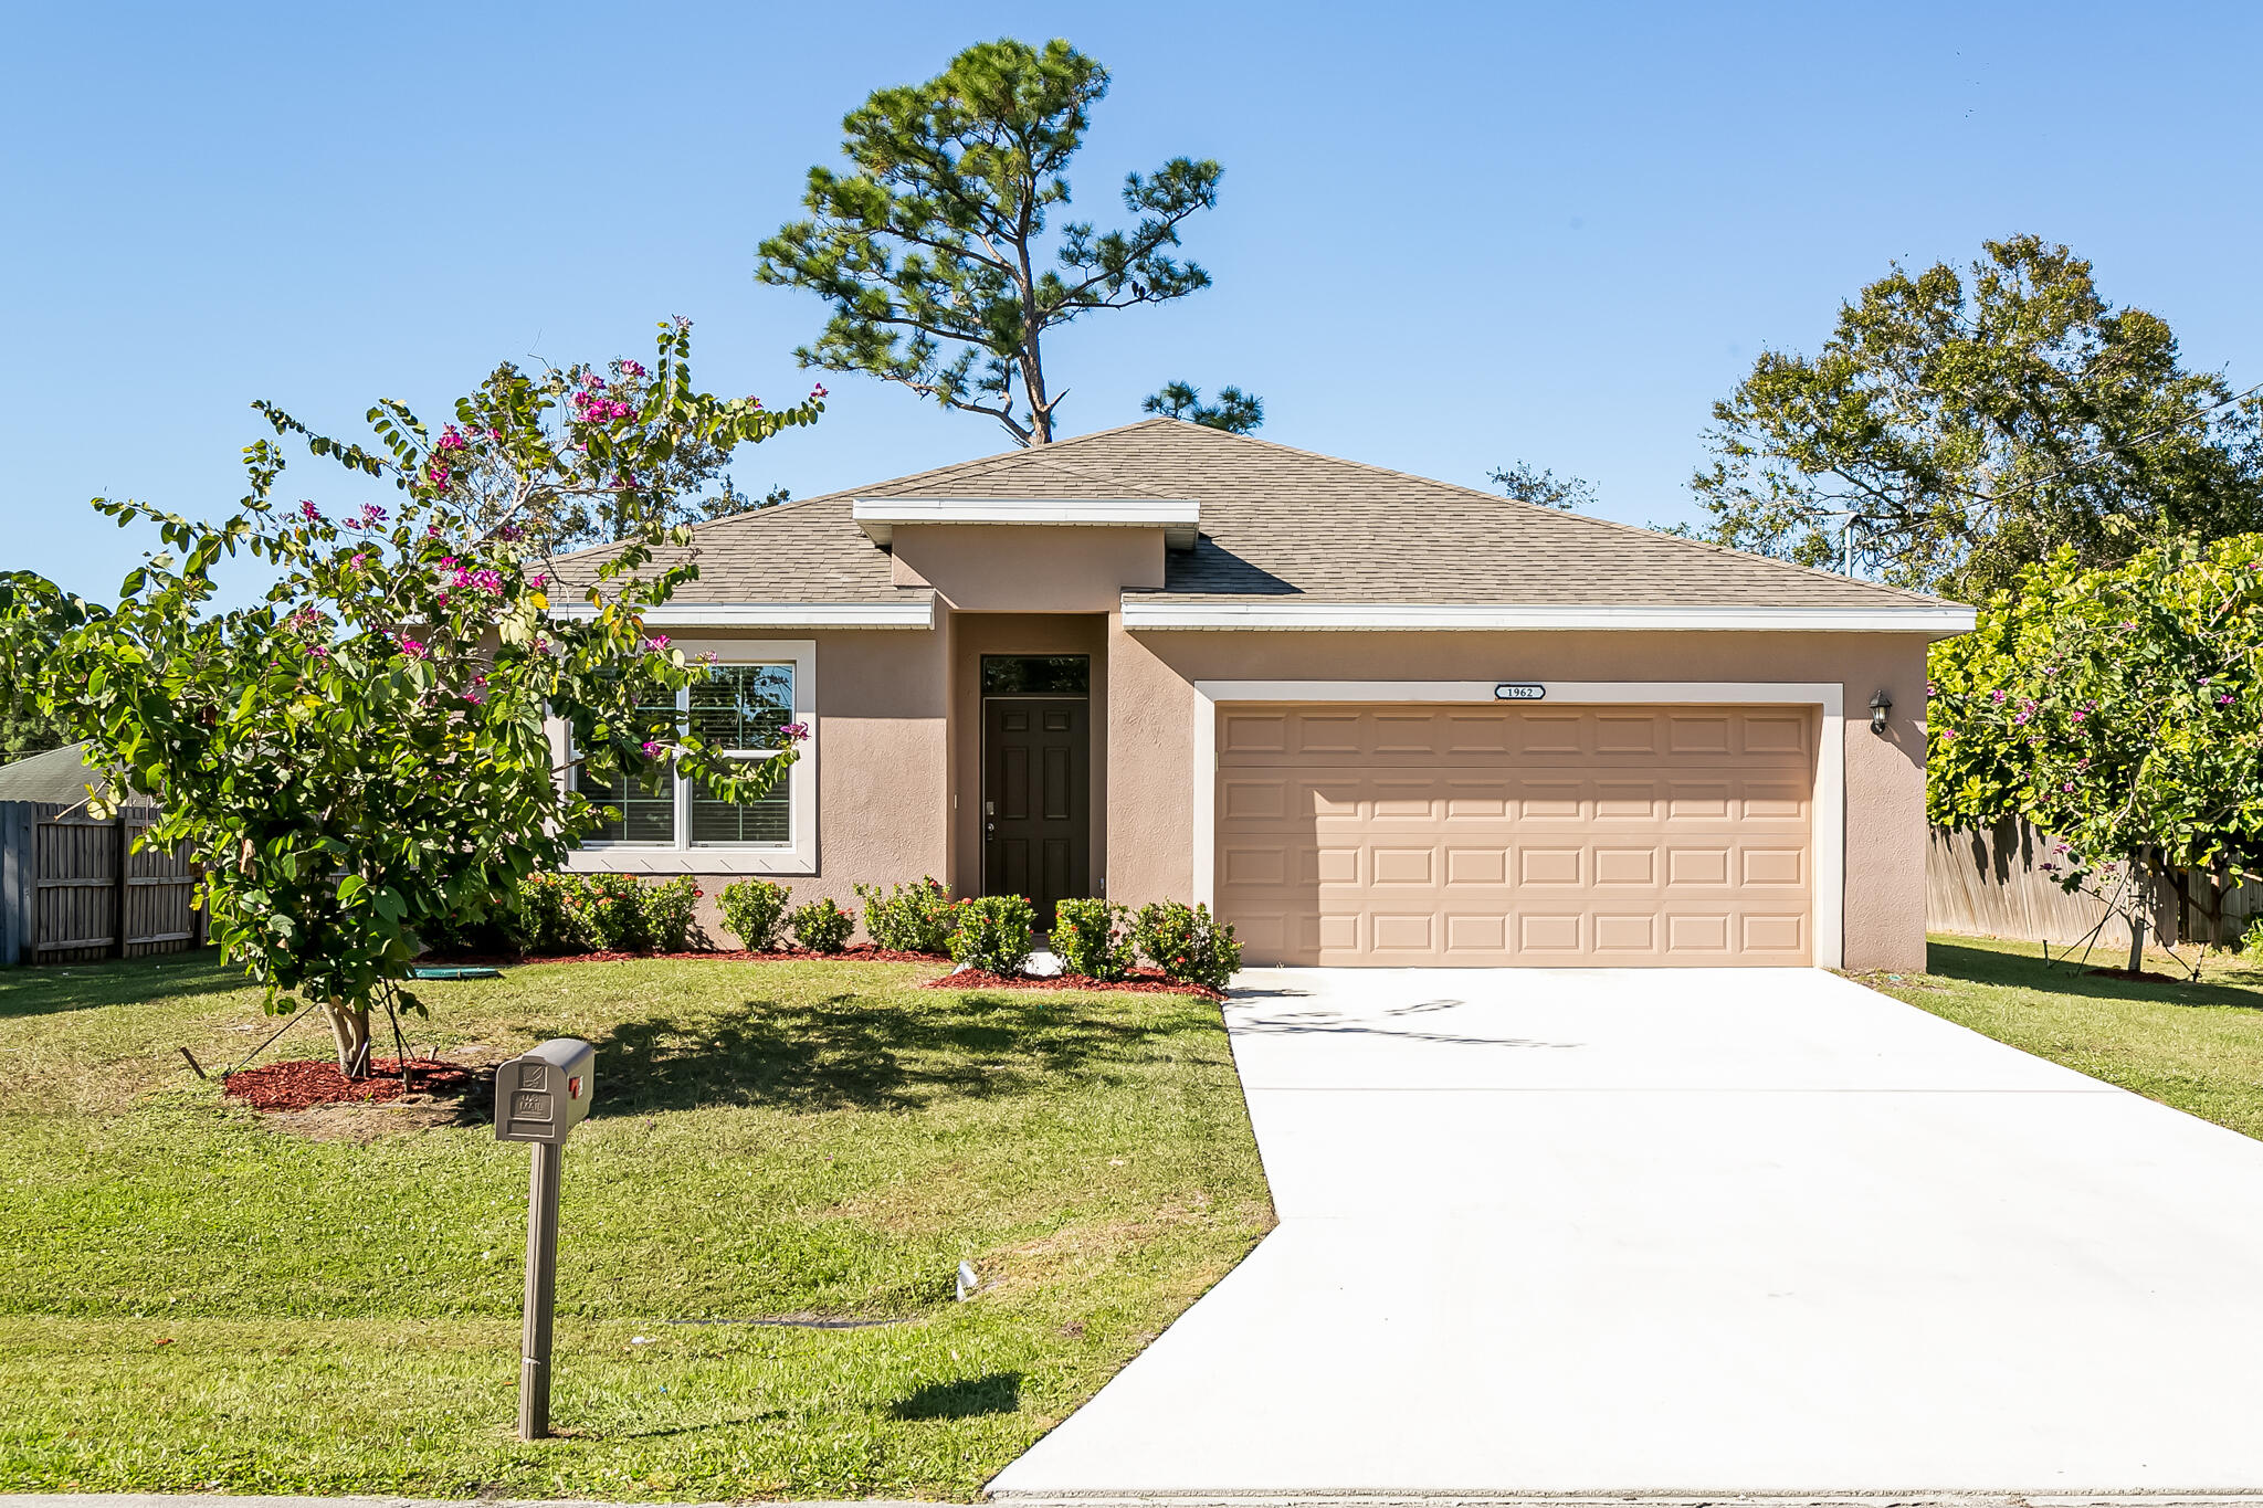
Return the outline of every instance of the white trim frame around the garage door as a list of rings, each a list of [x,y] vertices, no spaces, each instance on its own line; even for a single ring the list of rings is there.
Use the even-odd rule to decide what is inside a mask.
[[[1543,681],[1541,676],[1528,676]],[[1505,676],[1505,681],[1512,681]],[[1543,681],[1550,705],[1792,705],[1822,714],[1815,742],[1815,968],[1847,954],[1847,687],[1835,681]],[[1399,701],[1494,705],[1494,681],[1197,681],[1195,900],[1217,904],[1217,703]],[[1539,705],[1539,703],[1516,703]]]

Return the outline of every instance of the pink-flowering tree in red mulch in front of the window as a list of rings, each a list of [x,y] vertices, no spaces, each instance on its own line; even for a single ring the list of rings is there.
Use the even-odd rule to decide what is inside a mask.
[[[778,757],[729,760],[649,710],[704,674],[643,622],[697,574],[652,479],[821,411],[817,396],[772,414],[702,393],[688,359],[674,321],[649,371],[618,364],[634,400],[586,369],[505,366],[439,434],[380,402],[378,448],[258,405],[276,439],[244,450],[251,486],[226,520],[95,502],[163,540],[115,604],[0,574],[0,674],[158,800],[145,841],[188,846],[226,956],[274,1011],[319,1002],[349,1074],[367,1072],[371,1006],[416,1008],[403,981],[421,929],[477,920],[606,818],[561,782],[545,719],[600,780],[681,769],[751,800],[792,762],[792,730]],[[292,436],[401,497],[278,504]],[[557,500],[609,509],[622,534],[570,622],[548,615],[554,572],[520,522]],[[272,570],[253,606],[215,606],[229,556]]]

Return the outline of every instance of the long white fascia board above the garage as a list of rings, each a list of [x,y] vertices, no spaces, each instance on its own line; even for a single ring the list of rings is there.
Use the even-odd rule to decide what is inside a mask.
[[[1967,633],[1973,610],[1908,608],[1616,608],[1383,601],[1141,601],[1125,597],[1125,629],[1523,629],[1523,631],[1736,631],[1736,633]]]

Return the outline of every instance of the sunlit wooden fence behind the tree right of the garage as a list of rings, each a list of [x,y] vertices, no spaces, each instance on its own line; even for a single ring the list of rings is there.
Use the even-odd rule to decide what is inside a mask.
[[[2096,895],[2068,895],[2043,864],[2053,839],[2025,823],[1991,832],[1933,830],[1926,852],[1926,925],[2025,938],[2064,947],[2098,931],[2105,952],[2129,947],[2129,925],[2107,916]],[[2109,886],[2111,889],[2111,886]],[[2175,875],[2152,898],[2152,936],[2163,943],[2234,943],[2263,916],[2263,886],[2218,886],[2209,875]]]

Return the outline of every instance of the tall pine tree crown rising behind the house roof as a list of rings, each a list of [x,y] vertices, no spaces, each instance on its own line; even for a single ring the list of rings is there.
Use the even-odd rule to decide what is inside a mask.
[[[1066,391],[1046,387],[1046,332],[1211,283],[1172,249],[1179,224],[1217,203],[1217,163],[1127,174],[1129,231],[1070,222],[1048,242],[1048,210],[1068,203],[1068,161],[1107,88],[1107,70],[1066,41],[996,41],[851,111],[853,170],[810,167],[810,219],[778,228],[756,262],[758,280],[833,305],[817,344],[794,353],[801,364],[987,414],[1023,445],[1052,441]]]

